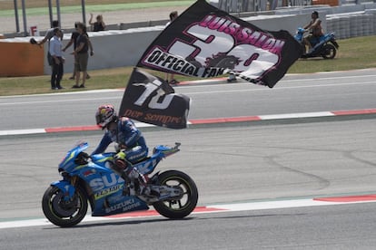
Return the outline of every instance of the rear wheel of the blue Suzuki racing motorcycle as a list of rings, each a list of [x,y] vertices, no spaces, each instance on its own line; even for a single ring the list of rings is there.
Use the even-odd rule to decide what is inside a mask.
[[[159,175],[160,185],[181,187],[183,195],[177,199],[159,201],[153,204],[155,210],[168,218],[183,218],[192,213],[197,205],[198,191],[193,179],[181,171],[169,170]]]

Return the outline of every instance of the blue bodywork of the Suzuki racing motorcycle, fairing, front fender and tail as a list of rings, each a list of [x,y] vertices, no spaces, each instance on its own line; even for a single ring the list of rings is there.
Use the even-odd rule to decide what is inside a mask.
[[[157,146],[153,155],[134,164],[135,168],[143,174],[153,172],[161,159],[179,151],[180,143],[175,147]],[[81,178],[86,186],[92,205],[92,216],[111,216],[115,214],[147,210],[147,204],[138,197],[124,196],[125,181],[109,168],[108,162],[113,160],[114,153],[97,154],[90,157],[86,164],[77,165],[74,159],[88,148],[88,143],[83,142],[71,149],[59,164],[61,172],[69,173],[63,180],[55,181],[52,186],[64,192],[64,200],[74,197],[75,187],[71,184],[70,177]]]

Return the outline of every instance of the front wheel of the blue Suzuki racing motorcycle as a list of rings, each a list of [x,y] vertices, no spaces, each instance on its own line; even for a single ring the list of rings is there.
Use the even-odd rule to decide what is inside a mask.
[[[76,188],[72,200],[64,201],[58,187],[48,187],[42,199],[45,217],[56,226],[69,227],[80,223],[87,212],[87,199],[81,188]]]

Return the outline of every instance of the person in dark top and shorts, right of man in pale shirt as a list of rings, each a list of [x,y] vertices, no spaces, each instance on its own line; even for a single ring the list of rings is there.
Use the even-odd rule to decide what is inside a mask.
[[[75,84],[72,88],[84,88],[87,75],[87,62],[89,60],[89,37],[86,33],[86,26],[83,23],[77,24],[77,31],[80,34],[76,40],[76,48],[74,49],[74,68],[75,68]],[[91,51],[93,55],[94,51]],[[83,82],[79,85],[80,74],[83,72]]]

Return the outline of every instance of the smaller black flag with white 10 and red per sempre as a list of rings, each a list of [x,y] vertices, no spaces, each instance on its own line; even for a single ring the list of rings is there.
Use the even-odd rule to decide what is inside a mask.
[[[119,116],[171,129],[184,129],[190,98],[177,94],[162,78],[134,68],[124,91]]]

